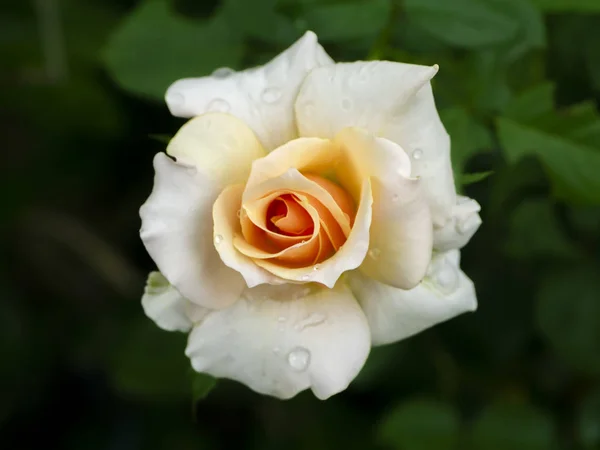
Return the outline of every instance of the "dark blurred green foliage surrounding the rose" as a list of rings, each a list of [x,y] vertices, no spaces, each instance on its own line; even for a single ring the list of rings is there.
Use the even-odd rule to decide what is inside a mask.
[[[600,448],[599,0],[32,0],[4,5],[6,448]],[[376,348],[327,402],[190,371],[139,304],[151,159],[178,78],[312,29],[337,60],[439,64],[479,310]],[[36,432],[33,433],[32,430]]]

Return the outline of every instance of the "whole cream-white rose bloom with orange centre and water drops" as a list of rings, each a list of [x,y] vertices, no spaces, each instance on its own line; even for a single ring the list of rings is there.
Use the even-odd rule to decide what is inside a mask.
[[[146,314],[191,330],[199,372],[289,398],[344,390],[371,345],[476,308],[430,79],[437,66],[334,64],[308,32],[267,65],[174,83],[193,117],[154,159],[141,237]]]

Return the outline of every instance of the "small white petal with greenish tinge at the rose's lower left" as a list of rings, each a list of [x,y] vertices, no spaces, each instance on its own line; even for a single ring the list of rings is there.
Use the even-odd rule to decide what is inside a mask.
[[[189,331],[210,311],[182,297],[160,272],[148,275],[142,307],[156,325],[167,331]]]

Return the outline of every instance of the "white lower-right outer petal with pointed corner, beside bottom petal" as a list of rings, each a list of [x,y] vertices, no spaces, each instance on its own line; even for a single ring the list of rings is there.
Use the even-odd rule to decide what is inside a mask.
[[[349,277],[371,328],[373,345],[389,344],[477,308],[473,282],[459,269],[458,250],[436,255],[427,278],[404,291],[358,272]]]

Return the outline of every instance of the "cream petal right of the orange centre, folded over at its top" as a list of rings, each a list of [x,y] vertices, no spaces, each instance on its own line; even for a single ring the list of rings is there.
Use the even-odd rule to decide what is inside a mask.
[[[345,155],[340,179],[371,178],[373,221],[361,270],[401,289],[421,282],[431,261],[433,226],[421,180],[410,179],[410,159],[394,142],[356,128],[335,138]]]

